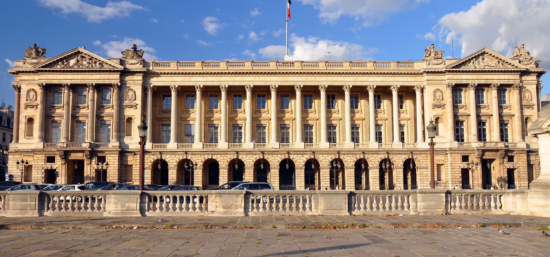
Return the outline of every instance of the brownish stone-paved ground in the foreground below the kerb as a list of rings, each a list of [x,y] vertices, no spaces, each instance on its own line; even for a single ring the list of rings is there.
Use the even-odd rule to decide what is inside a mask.
[[[1,256],[548,256],[540,230],[34,229],[0,231]]]

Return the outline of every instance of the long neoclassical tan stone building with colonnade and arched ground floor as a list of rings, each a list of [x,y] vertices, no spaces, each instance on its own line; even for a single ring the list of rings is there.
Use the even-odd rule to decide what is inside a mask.
[[[146,183],[429,188],[431,119],[437,188],[526,189],[540,170],[525,131],[547,70],[523,45],[512,58],[483,48],[443,59],[432,44],[423,61],[146,61],[135,45],[122,58],[45,52],[28,47],[8,70],[9,169],[28,161],[25,182],[138,184],[141,118]]]

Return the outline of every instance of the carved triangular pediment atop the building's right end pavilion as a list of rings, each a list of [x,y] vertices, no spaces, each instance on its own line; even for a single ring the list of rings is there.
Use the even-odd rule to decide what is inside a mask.
[[[511,60],[491,49],[483,48],[473,54],[460,59],[445,69],[476,69],[476,70],[502,70],[502,69],[524,69],[525,65],[518,61]]]

